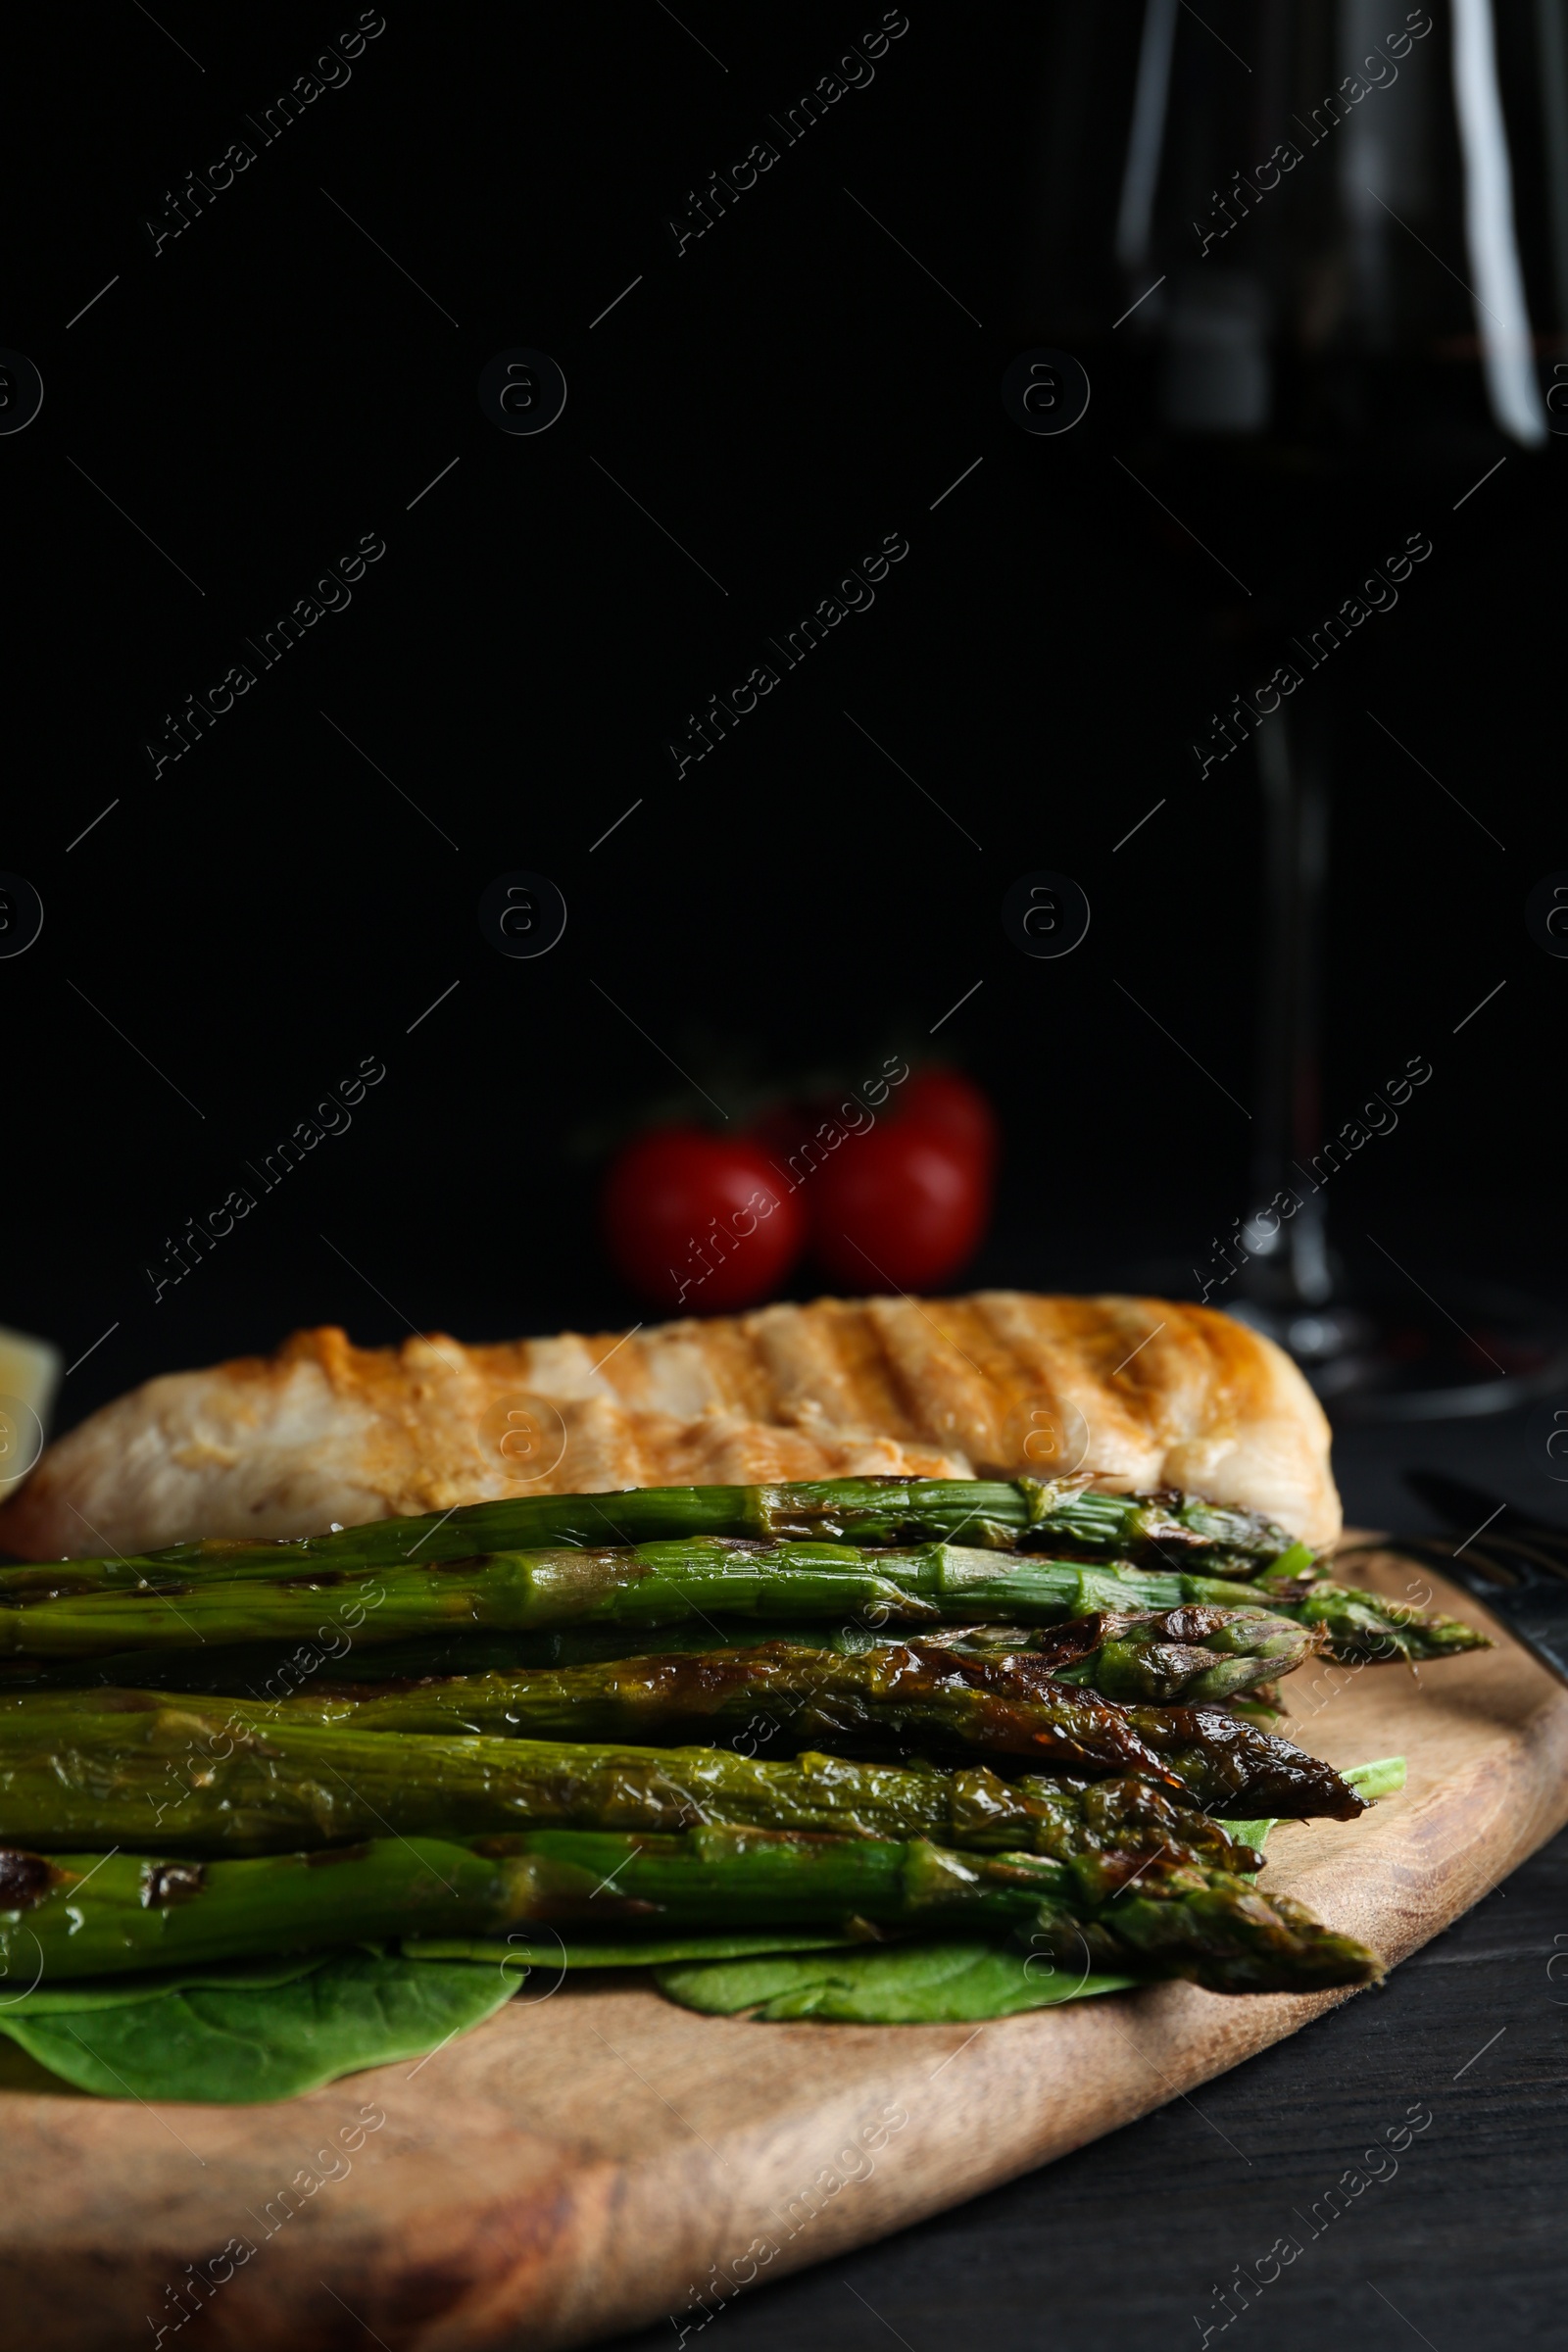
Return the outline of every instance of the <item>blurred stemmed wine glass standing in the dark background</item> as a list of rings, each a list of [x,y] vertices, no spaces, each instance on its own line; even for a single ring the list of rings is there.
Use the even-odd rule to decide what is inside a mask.
[[[1152,480],[1288,550],[1300,642],[1368,557],[1345,477],[1455,480],[1568,430],[1568,0],[1065,0],[1023,327],[1074,350]],[[1164,492],[1161,492],[1164,494]],[[1227,630],[1262,640],[1258,607]],[[1568,1376],[1526,1298],[1347,1279],[1321,1134],[1340,680],[1234,713],[1262,804],[1262,974],[1241,1270],[1222,1301],[1345,1414],[1497,1411]],[[1225,741],[1220,736],[1220,741]],[[1295,1195],[1288,1218],[1267,1204]],[[1458,1319],[1455,1319],[1458,1317]]]

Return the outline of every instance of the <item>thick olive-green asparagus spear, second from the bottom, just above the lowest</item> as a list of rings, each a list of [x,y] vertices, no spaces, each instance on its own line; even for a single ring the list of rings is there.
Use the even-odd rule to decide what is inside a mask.
[[[313,1724],[294,1710],[176,1708],[132,1691],[73,1712],[12,1700],[0,1724],[0,1842],[42,1853],[153,1837],[169,1853],[216,1856],[386,1832],[722,1823],[933,1837],[1058,1858],[1161,1851],[1260,1867],[1218,1823],[1126,1776],[1009,1785],[985,1766],[849,1764],[811,1752],[757,1762],[722,1748],[440,1733],[390,1738],[362,1724]]]

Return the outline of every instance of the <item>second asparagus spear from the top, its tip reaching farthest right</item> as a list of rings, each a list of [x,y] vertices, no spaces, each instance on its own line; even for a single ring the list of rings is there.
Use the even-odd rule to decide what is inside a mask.
[[[475,1505],[480,1508],[480,1505]],[[482,1505],[489,1508],[489,1505]],[[1450,1618],[1378,1606],[1326,1581],[1276,1578],[1276,1616],[1321,1625],[1335,1656],[1443,1656],[1483,1637]],[[0,1656],[89,1658],[320,1637],[378,1646],[411,1635],[531,1632],[569,1623],[663,1628],[731,1616],[858,1613],[867,1630],[943,1621],[1060,1623],[1100,1609],[1258,1606],[1258,1588],[1187,1573],[1103,1569],[929,1543],[867,1552],[837,1543],[682,1538],[635,1550],[494,1552],[444,1566],[310,1569],[179,1592],[92,1590],[0,1606]],[[1378,1646],[1382,1644],[1382,1646]]]

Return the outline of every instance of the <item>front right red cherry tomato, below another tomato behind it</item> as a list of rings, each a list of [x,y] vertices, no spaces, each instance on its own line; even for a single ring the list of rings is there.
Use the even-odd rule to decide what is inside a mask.
[[[973,1254],[990,1185],[973,1143],[914,1120],[851,1136],[806,1185],[823,1270],[849,1291],[919,1291]]]

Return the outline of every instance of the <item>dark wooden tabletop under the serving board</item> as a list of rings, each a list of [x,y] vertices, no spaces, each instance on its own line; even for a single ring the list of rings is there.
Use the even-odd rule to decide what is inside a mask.
[[[1359,1524],[1432,1524],[1399,1472],[1448,1468],[1540,1515],[1516,1418],[1352,1432]],[[1554,1964],[1554,1955],[1561,1955]],[[766,2027],[759,2027],[766,2030]],[[1363,2164],[1425,2107],[1399,2157]],[[1396,2171],[1389,2171],[1396,2164]],[[1366,2185],[1338,2218],[1347,2166]],[[1314,2220],[1314,2206],[1319,2218]],[[1194,2100],[863,2253],[719,2310],[715,2352],[1490,2352],[1568,2340],[1568,1832],[1366,1992]],[[1312,2234],[1316,2230],[1316,2234]],[[1293,2237],[1286,2267],[1265,2260]],[[1225,2326],[1237,2265],[1279,2277]],[[1234,2300],[1232,2300],[1234,2312]],[[1213,2328],[1204,2338],[1204,2328]],[[616,2352],[670,2352],[677,2326]]]

